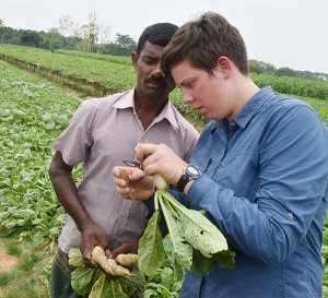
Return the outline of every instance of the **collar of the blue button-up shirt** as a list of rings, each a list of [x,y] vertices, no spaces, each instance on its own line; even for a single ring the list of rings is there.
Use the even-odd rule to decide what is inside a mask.
[[[233,121],[238,124],[241,128],[245,129],[249,123],[254,115],[265,105],[269,97],[273,94],[273,91],[270,86],[261,88],[256,93],[243,107],[239,114],[236,116]],[[222,120],[213,121],[212,130],[216,129],[222,124]]]

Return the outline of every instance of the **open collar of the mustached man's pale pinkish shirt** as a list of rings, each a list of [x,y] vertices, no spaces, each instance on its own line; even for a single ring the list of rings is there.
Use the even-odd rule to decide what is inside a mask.
[[[130,90],[126,96],[124,96],[120,100],[118,100],[117,103],[115,103],[113,105],[113,107],[118,108],[118,109],[126,109],[126,108],[132,108],[133,112],[136,114],[136,109],[134,109],[134,90]],[[137,114],[136,114],[137,115]],[[178,123],[176,121],[175,118],[175,112],[174,112],[174,108],[173,105],[169,102],[169,98],[165,105],[165,107],[163,108],[163,110],[161,111],[161,114],[154,119],[153,122],[160,122],[163,119],[167,119],[167,121],[175,127],[176,129],[178,129]]]

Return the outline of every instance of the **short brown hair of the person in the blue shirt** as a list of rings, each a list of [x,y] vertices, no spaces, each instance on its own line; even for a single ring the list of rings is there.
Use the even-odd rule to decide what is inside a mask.
[[[221,56],[231,59],[243,74],[249,73],[246,46],[237,28],[220,14],[207,12],[175,33],[163,50],[161,67],[168,74],[174,65],[187,60],[211,72]]]

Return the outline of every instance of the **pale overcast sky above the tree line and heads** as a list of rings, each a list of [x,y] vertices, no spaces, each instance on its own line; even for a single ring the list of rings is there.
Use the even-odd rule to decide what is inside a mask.
[[[238,28],[249,59],[328,73],[328,0],[0,0],[5,26],[47,32],[65,15],[82,25],[95,14],[112,41],[117,33],[137,41],[151,24],[180,26],[207,11]]]

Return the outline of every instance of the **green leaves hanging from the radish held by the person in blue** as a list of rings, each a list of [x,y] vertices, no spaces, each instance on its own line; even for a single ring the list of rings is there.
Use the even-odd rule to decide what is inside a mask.
[[[222,265],[221,260],[224,260],[224,267],[234,267],[234,253],[224,253],[220,258],[214,258],[222,251],[229,251],[229,248],[221,231],[203,213],[186,208],[166,190],[156,190],[154,200],[155,213],[140,239],[138,250],[140,269],[145,275],[153,275],[163,263],[163,258],[157,257],[159,251],[163,250],[157,227],[159,204],[173,243],[172,252],[180,266],[201,275],[208,274],[214,262],[219,261],[218,264]]]

